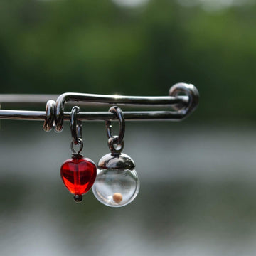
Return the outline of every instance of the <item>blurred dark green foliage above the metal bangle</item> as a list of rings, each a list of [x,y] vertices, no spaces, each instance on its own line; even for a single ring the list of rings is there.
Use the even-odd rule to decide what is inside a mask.
[[[0,2],[1,93],[201,93],[205,119],[254,119],[256,4],[206,11],[174,0]]]

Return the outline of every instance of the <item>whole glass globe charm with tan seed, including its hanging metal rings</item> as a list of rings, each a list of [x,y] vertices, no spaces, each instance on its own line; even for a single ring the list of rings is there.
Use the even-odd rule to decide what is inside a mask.
[[[100,203],[121,207],[131,203],[139,193],[139,178],[134,161],[124,148],[124,115],[119,107],[110,107],[110,112],[119,119],[119,136],[112,136],[111,121],[106,121],[108,146],[111,153],[102,156],[97,164],[97,178],[92,192]]]

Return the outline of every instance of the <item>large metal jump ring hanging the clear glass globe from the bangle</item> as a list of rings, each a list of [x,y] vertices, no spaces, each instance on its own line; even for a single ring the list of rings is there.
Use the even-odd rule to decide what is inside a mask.
[[[122,141],[124,139],[124,132],[125,132],[124,114],[122,110],[117,106],[110,107],[109,111],[115,114],[119,119],[119,135],[118,137],[112,136],[112,124],[110,120],[107,120],[105,121],[106,128],[107,128],[107,137],[109,139],[114,138],[114,144],[122,144]]]

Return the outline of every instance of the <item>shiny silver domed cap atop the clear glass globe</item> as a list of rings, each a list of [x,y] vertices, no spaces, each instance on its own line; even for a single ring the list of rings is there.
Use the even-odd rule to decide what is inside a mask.
[[[135,163],[127,154],[119,154],[113,156],[111,153],[102,156],[97,164],[98,169],[118,169],[118,170],[134,170]]]

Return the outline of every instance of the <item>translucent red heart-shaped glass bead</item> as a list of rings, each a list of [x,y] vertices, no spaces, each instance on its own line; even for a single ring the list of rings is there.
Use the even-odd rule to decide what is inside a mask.
[[[97,168],[91,159],[68,159],[60,169],[60,176],[70,193],[82,195],[90,190],[97,175]]]

